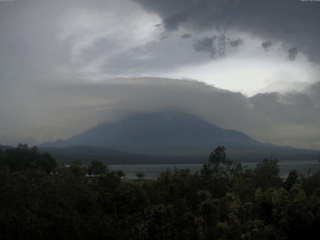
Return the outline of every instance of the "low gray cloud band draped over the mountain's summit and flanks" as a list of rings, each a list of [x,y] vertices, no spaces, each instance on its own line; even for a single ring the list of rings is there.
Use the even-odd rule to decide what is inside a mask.
[[[319,86],[247,97],[203,82],[149,77],[23,85],[14,89],[20,97],[2,108],[5,117],[0,120],[0,129],[19,134],[4,139],[2,130],[0,140],[12,144],[23,139],[21,132],[25,132],[26,140],[39,143],[137,112],[176,108],[264,142],[320,149]]]

